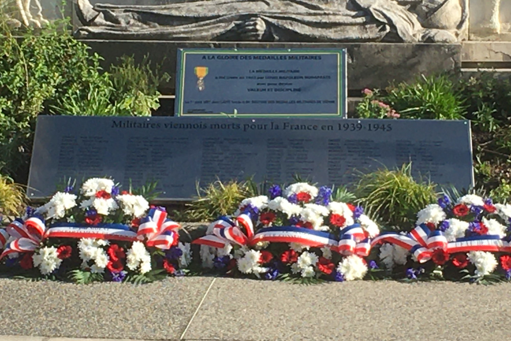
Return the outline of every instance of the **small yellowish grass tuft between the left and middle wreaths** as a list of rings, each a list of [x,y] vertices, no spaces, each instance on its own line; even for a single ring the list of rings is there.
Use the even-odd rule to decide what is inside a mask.
[[[180,221],[212,221],[221,215],[233,214],[243,199],[257,195],[253,181],[220,180],[200,188],[197,184],[197,197],[187,205],[184,213],[178,213]]]

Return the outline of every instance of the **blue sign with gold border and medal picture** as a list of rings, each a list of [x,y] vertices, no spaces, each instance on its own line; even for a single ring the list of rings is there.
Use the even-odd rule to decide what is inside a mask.
[[[346,113],[345,50],[180,49],[176,116]]]

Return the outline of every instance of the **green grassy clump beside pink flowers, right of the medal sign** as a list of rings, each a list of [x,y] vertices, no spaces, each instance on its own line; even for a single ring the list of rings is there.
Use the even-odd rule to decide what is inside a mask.
[[[386,88],[382,101],[407,119],[463,119],[462,97],[448,75],[421,75],[413,83]]]

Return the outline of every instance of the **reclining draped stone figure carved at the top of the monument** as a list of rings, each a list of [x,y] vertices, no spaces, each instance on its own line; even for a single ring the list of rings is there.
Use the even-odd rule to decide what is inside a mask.
[[[178,0],[179,1],[179,0]],[[203,0],[116,6],[77,0],[81,38],[216,41],[464,39],[469,0]]]

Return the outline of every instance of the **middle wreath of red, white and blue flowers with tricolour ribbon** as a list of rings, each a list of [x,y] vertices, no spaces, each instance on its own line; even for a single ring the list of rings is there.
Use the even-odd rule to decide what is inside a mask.
[[[193,243],[204,269],[231,276],[344,281],[376,268],[365,256],[378,234],[362,207],[333,200],[329,187],[296,183],[244,199]]]

